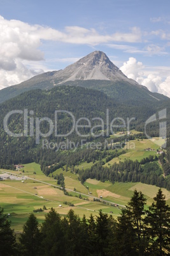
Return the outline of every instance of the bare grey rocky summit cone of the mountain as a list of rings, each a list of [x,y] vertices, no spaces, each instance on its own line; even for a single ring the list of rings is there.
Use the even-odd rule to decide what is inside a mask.
[[[120,69],[115,66],[104,52],[96,51],[78,60],[65,69],[57,71],[53,78],[61,79],[65,83],[75,80],[110,80],[126,81],[129,78],[125,76]],[[138,85],[134,80],[131,83]]]

